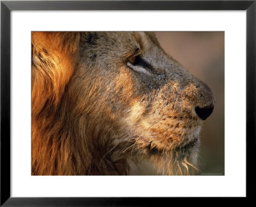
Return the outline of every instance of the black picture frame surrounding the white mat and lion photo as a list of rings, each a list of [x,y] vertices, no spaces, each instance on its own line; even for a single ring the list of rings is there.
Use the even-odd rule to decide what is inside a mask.
[[[246,10],[246,197],[255,175],[256,2],[253,1],[1,1],[1,206],[151,206],[171,198],[10,197],[10,12],[12,10]],[[239,110],[239,109],[237,109]],[[239,164],[238,164],[239,165]],[[238,166],[239,167],[239,166]]]

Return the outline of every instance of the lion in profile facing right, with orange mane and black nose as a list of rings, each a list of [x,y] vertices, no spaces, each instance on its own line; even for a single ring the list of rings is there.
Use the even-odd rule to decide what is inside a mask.
[[[32,175],[194,174],[211,89],[152,32],[32,32]]]

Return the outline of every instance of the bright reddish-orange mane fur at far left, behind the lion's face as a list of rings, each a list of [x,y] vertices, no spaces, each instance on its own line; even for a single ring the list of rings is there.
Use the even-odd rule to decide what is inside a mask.
[[[34,32],[32,45],[32,174],[69,174],[52,162],[68,153],[58,139],[63,132],[56,114],[77,64],[79,33]]]

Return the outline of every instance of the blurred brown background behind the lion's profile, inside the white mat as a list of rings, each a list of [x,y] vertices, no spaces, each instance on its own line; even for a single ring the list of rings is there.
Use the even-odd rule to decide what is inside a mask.
[[[164,51],[204,81],[216,103],[200,133],[198,175],[224,175],[224,32],[156,32]],[[149,162],[132,164],[132,175],[154,175]]]

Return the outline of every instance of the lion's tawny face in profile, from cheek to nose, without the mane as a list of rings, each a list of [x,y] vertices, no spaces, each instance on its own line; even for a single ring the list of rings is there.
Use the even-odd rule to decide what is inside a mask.
[[[168,56],[153,33],[83,33],[80,51],[67,100],[86,137],[102,143],[104,158],[147,157],[170,165],[162,169],[167,174],[195,165],[202,120],[214,105],[204,82]]]

